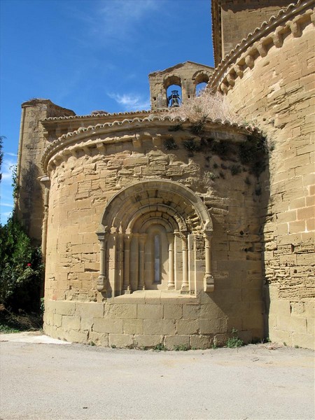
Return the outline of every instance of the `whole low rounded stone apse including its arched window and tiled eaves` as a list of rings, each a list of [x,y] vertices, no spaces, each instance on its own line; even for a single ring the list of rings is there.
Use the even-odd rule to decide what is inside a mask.
[[[167,349],[223,345],[233,328],[262,339],[263,144],[248,127],[209,120],[197,135],[162,116],[52,142],[45,332]]]

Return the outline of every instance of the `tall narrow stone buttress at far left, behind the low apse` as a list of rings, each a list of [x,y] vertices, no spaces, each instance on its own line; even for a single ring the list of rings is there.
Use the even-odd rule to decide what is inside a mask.
[[[16,214],[37,244],[41,243],[43,222],[43,188],[38,177],[43,176],[41,156],[47,144],[40,121],[73,114],[73,111],[56,106],[48,99],[32,99],[22,104]]]

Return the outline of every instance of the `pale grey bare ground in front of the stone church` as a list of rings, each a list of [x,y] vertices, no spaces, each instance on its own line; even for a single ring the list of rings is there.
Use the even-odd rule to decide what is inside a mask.
[[[0,337],[0,419],[314,419],[314,351],[141,351]]]

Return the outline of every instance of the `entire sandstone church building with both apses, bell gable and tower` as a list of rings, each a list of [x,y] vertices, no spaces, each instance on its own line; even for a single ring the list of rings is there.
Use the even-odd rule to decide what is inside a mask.
[[[149,75],[151,111],[23,104],[18,208],[42,241],[48,335],[173,349],[237,330],[314,349],[315,4],[243,3],[213,2],[215,70]],[[205,81],[243,123],[167,115],[167,87],[185,102]]]

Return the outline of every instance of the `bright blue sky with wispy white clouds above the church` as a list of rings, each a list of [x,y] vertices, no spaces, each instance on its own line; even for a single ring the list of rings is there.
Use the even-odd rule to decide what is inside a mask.
[[[22,102],[39,97],[78,115],[149,109],[148,73],[214,65],[210,0],[0,0],[1,223]]]

